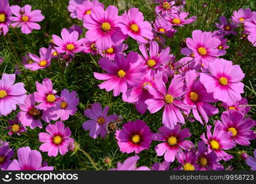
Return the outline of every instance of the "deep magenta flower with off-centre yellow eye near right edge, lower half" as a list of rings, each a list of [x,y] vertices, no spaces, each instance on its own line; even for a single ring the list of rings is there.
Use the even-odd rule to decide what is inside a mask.
[[[220,126],[222,131],[232,132],[233,140],[237,144],[249,146],[249,140],[256,138],[255,132],[251,130],[254,121],[244,118],[241,112],[235,110],[223,112],[221,118],[222,121],[215,121],[215,125]]]

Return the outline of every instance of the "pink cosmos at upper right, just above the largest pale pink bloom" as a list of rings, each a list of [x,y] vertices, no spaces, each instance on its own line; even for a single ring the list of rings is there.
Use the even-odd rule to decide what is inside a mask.
[[[225,50],[219,50],[220,40],[213,37],[209,32],[195,30],[192,32],[192,39],[187,38],[187,46],[195,56],[196,61],[208,67],[208,63],[215,60],[217,56],[225,55]]]

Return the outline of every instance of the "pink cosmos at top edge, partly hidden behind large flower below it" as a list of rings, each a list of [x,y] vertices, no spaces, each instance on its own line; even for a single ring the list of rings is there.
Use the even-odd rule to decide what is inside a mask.
[[[77,4],[76,6],[77,18],[79,20],[83,20],[85,15],[91,14],[91,10],[93,10],[95,7],[98,7],[98,6],[104,9],[104,4],[102,4],[98,0],[93,0],[93,2],[87,0],[87,1],[83,1],[82,4]]]

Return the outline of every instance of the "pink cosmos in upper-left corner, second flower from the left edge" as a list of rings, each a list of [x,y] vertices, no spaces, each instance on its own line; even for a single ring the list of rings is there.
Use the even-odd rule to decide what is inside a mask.
[[[44,20],[44,16],[41,14],[41,10],[31,11],[31,6],[26,4],[24,7],[17,5],[11,6],[10,9],[16,17],[12,17],[13,27],[21,28],[21,32],[24,34],[32,33],[33,29],[39,30],[41,26],[36,22]]]

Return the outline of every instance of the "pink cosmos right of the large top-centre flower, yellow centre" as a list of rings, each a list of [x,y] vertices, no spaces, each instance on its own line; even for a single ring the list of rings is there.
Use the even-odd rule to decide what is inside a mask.
[[[118,26],[122,29],[123,34],[128,34],[139,43],[147,44],[148,40],[153,39],[152,26],[148,21],[144,21],[143,13],[139,12],[137,8],[129,9],[128,13],[125,11]]]

